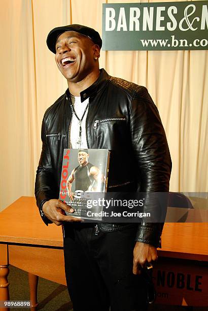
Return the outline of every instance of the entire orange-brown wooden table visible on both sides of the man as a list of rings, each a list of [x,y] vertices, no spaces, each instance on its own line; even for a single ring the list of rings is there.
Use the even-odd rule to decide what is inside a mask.
[[[161,294],[156,302],[208,305],[207,228],[206,223],[165,224],[153,274]],[[9,299],[9,264],[29,272],[34,308],[36,275],[66,285],[61,227],[43,223],[33,197],[21,197],[0,213],[0,301]],[[193,285],[196,277],[198,285]]]

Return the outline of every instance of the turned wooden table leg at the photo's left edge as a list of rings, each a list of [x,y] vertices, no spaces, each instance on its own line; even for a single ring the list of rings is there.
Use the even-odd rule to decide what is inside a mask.
[[[0,301],[9,300],[9,258],[8,245],[0,244]],[[0,307],[0,311],[9,310],[9,308]]]

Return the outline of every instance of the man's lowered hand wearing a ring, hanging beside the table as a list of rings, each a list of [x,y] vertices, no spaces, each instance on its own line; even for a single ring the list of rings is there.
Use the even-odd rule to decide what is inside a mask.
[[[133,250],[133,274],[140,274],[141,267],[157,260],[157,248],[146,243],[136,242]]]

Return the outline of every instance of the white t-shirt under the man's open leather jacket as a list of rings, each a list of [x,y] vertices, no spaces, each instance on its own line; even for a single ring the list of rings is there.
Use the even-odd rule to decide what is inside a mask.
[[[89,103],[89,98],[87,98],[84,102],[81,103],[81,97],[74,97],[71,95],[72,104],[74,106],[75,112],[79,119],[82,118],[83,113]],[[70,127],[70,148],[73,149],[87,149],[87,137],[86,137],[86,117],[88,113],[88,108],[85,111],[85,115],[82,120],[82,134],[81,134],[81,144],[79,144],[80,138],[80,125],[79,120],[77,119],[74,112],[72,113],[72,121]]]

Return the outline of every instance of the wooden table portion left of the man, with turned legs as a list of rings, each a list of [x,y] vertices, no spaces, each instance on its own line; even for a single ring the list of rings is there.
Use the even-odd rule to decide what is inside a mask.
[[[0,213],[0,301],[9,299],[9,264],[29,272],[30,287],[36,286],[34,275],[66,285],[61,227],[43,223],[33,197]],[[36,293],[30,294],[35,306]]]

